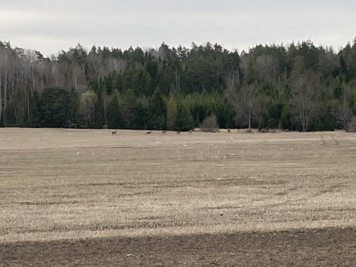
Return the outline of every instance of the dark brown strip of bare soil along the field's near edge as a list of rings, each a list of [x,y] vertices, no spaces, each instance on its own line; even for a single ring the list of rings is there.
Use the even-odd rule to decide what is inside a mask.
[[[0,265],[354,266],[356,229],[0,244]]]

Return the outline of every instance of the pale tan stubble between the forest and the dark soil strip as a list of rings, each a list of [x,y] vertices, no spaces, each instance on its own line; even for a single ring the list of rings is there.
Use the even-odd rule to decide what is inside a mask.
[[[356,135],[0,129],[0,242],[355,227]]]

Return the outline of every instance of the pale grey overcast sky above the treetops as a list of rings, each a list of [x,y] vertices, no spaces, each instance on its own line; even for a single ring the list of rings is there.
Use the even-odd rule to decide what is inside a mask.
[[[77,43],[122,49],[308,40],[336,50],[356,36],[354,0],[0,0],[0,40],[45,56]]]

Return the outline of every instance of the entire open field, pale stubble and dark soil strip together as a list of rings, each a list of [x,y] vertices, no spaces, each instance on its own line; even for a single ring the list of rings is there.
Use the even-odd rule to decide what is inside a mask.
[[[356,261],[356,134],[144,133],[0,128],[4,264]]]

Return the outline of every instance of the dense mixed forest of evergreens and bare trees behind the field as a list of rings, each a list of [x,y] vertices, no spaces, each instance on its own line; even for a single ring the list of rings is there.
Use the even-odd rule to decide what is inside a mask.
[[[312,42],[162,44],[143,51],[80,44],[58,56],[0,42],[0,126],[188,130],[346,129],[356,114],[356,39],[338,53]]]

